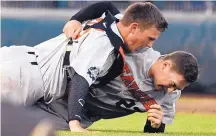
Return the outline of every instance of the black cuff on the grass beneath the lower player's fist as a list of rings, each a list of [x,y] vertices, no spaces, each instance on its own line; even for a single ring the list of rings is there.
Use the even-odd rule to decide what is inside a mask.
[[[146,124],[144,126],[144,133],[164,133],[165,131],[165,124],[161,123],[161,126],[159,128],[152,128],[151,122],[149,120],[146,120]]]

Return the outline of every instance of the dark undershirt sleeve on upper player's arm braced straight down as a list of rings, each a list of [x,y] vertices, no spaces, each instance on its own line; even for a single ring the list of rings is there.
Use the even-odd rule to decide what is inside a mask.
[[[74,73],[68,83],[68,122],[71,120],[81,121],[82,107],[88,94],[89,84],[85,78]]]

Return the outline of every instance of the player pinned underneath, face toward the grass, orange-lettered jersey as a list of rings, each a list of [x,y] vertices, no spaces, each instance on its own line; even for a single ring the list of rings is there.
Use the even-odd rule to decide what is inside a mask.
[[[120,76],[106,85],[90,87],[79,113],[81,127],[87,128],[100,119],[148,112],[144,132],[164,132],[165,124],[174,119],[175,102],[181,90],[197,80],[197,60],[187,52],[160,55],[152,48],[126,55],[126,58]],[[68,106],[67,96],[48,105],[37,103],[37,107],[56,122],[58,129],[76,127],[67,125]]]

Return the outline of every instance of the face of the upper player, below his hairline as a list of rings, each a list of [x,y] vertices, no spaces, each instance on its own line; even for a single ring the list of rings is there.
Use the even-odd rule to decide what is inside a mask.
[[[131,25],[128,35],[127,45],[130,51],[134,52],[143,47],[152,47],[155,40],[160,36],[160,31],[156,27],[149,27],[141,30],[138,24]]]

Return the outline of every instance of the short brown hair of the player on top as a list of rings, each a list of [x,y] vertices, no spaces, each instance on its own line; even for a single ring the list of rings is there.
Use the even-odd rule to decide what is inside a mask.
[[[168,23],[159,9],[150,2],[136,2],[130,5],[121,20],[124,26],[133,22],[141,24],[141,29],[155,26],[160,32],[168,28]]]

